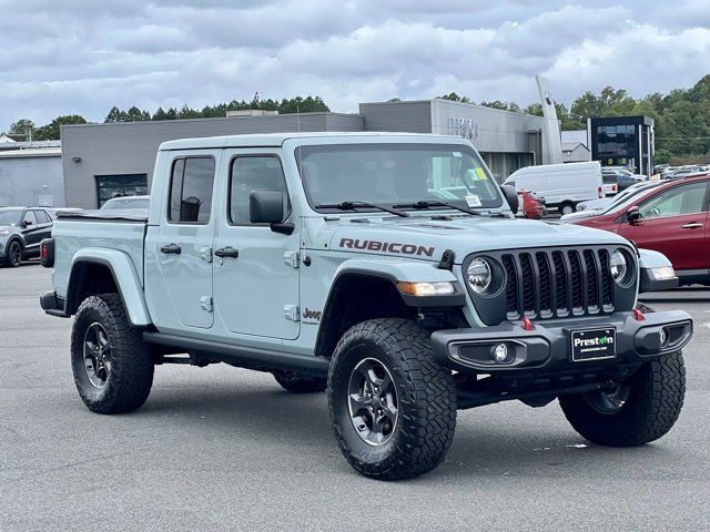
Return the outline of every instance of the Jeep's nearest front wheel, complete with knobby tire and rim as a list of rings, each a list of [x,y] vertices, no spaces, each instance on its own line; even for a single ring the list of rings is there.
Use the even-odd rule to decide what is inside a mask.
[[[357,324],[338,342],[328,375],[331,422],[359,473],[408,479],[446,457],[456,388],[430,350],[426,330],[406,319]]]

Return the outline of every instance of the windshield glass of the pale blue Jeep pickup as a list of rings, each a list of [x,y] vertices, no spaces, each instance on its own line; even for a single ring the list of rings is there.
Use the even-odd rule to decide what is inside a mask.
[[[328,205],[320,212],[332,212],[331,205],[342,202],[388,207],[416,202],[463,208],[503,205],[490,173],[473,147],[462,144],[326,144],[298,147],[295,155],[308,203],[314,208]]]

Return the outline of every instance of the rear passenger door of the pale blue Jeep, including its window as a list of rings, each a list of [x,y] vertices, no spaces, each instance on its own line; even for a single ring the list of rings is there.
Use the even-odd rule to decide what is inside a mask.
[[[215,168],[220,152],[175,153],[170,161],[168,206],[152,249],[180,324],[213,324],[212,238]],[[168,298],[165,298],[168,299]]]

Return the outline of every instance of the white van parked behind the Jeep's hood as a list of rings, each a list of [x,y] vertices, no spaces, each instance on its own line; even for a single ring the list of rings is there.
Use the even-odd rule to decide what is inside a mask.
[[[599,161],[527,166],[510,174],[504,185],[530,191],[561,214],[574,213],[579,202],[605,197]]]

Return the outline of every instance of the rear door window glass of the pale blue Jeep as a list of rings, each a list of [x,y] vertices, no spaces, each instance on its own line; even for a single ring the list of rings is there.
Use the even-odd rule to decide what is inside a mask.
[[[173,163],[168,219],[207,224],[212,212],[214,158],[186,157]]]

